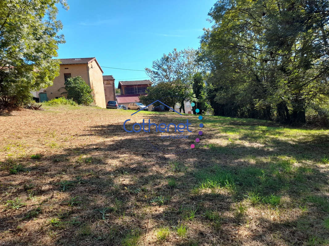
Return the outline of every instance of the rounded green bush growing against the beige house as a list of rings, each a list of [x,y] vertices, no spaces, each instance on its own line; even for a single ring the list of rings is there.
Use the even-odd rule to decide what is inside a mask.
[[[88,106],[94,101],[92,89],[80,76],[68,78],[64,85],[67,98],[72,99],[76,103]]]

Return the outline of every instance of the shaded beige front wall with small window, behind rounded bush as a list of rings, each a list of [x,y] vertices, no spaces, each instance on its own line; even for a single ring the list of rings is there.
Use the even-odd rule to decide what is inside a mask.
[[[62,92],[65,92],[64,73],[71,73],[71,77],[81,76],[88,84],[88,73],[86,67],[87,64],[60,65],[60,75],[54,79],[53,86],[49,86],[45,89],[48,100],[61,96],[64,96],[65,98],[67,97],[67,94],[62,94]]]

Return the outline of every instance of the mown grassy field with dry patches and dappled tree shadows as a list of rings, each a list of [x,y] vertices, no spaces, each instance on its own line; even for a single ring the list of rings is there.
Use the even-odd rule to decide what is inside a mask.
[[[328,130],[183,115],[164,154],[122,125],[174,113],[130,113],[0,116],[1,245],[329,245]]]

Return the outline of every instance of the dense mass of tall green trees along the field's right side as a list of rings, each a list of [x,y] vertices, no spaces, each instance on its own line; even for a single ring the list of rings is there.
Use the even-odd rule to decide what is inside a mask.
[[[304,123],[328,98],[329,2],[223,0],[209,15],[201,59],[219,115]]]

